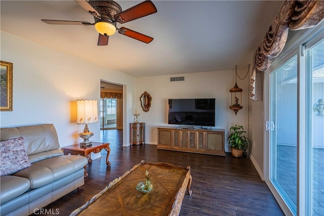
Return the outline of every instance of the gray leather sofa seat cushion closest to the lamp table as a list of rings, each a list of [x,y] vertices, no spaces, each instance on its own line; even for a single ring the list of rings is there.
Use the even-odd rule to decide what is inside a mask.
[[[87,164],[86,157],[62,155],[37,161],[32,166],[16,172],[14,176],[29,179],[30,188],[35,189],[71,175]]]

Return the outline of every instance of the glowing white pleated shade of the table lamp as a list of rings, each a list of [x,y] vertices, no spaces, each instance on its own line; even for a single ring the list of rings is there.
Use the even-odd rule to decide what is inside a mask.
[[[76,100],[77,124],[98,122],[97,100]]]

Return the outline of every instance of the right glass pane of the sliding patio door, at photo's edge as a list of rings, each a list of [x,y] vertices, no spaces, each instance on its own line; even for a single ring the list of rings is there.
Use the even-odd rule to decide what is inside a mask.
[[[313,215],[324,215],[324,40],[307,51],[308,108]]]

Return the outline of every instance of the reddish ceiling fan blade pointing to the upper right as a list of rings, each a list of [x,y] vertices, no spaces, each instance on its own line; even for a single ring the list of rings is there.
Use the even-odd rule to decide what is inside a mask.
[[[126,23],[156,13],[155,5],[151,1],[142,2],[126,11],[120,12],[114,16],[119,23]]]

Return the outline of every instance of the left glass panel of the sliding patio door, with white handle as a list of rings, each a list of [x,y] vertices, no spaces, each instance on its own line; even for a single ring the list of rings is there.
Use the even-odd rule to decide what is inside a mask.
[[[297,206],[297,56],[270,74],[270,180],[290,209]]]

